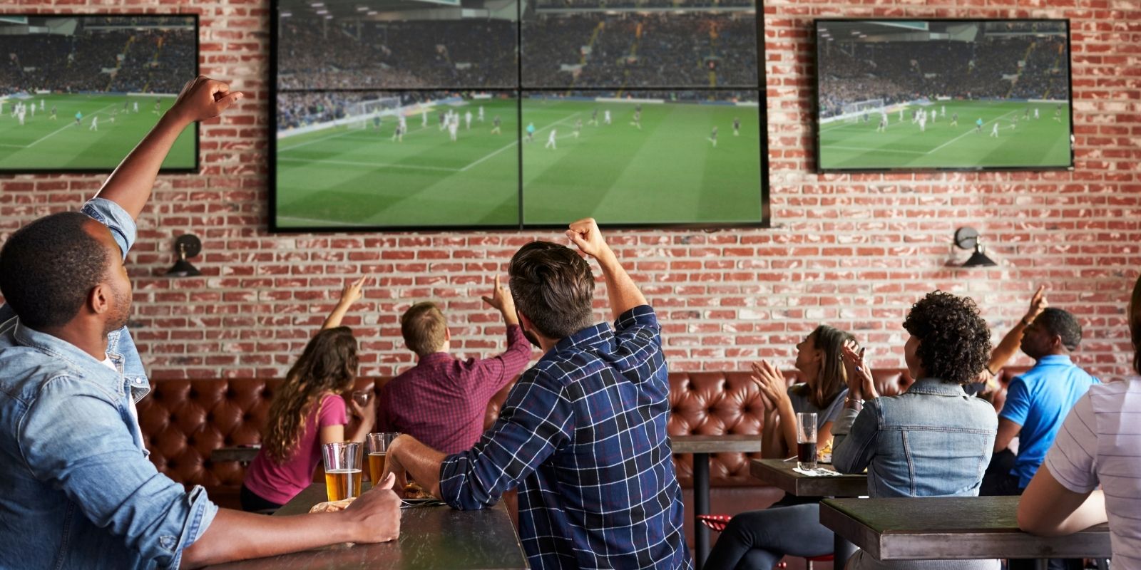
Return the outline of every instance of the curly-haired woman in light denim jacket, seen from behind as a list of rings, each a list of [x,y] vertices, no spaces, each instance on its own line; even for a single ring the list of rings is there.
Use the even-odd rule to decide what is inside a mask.
[[[917,380],[900,396],[879,398],[863,350],[845,347],[848,399],[832,429],[833,464],[841,473],[866,467],[872,497],[976,497],[998,418],[963,384],[986,366],[990,332],[974,301],[941,291],[912,306],[904,328],[911,333],[904,358]],[[848,569],[889,568],[997,570],[998,561],[881,562],[861,551],[848,562]]]

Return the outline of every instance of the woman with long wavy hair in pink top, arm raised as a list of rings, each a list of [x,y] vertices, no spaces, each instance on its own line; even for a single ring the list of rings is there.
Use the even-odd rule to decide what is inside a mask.
[[[357,373],[357,342],[353,331],[339,326],[349,307],[361,299],[365,278],[347,285],[324,325],[290,368],[274,394],[261,438],[261,450],[242,483],[242,508],[276,510],[313,481],[321,462],[321,446],[346,441],[345,398]],[[351,398],[349,399],[351,401]],[[375,423],[375,407],[351,402],[361,425],[350,438],[364,441]]]

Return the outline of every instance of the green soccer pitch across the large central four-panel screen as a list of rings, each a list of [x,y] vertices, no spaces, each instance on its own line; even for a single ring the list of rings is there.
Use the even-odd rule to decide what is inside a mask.
[[[584,217],[612,225],[761,221],[756,106],[589,98],[521,105],[524,225]],[[448,109],[461,117],[454,141],[438,119]],[[403,141],[394,140],[393,117],[280,138],[277,228],[519,225],[516,99],[432,105],[427,117],[416,105],[402,113]]]

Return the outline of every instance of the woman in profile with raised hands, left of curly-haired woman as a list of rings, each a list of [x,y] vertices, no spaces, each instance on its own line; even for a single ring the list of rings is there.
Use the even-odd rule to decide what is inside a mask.
[[[753,365],[766,405],[761,455],[784,458],[796,449],[796,413],[816,413],[818,448],[832,441],[832,424],[848,392],[847,372],[840,359],[851,334],[827,325],[816,327],[796,344],[794,366],[803,383],[787,386],[776,366],[762,360]],[[832,531],[820,524],[819,498],[786,496],[761,511],[741,513],[729,521],[705,562],[711,570],[770,569],[785,554],[819,556],[832,552]]]

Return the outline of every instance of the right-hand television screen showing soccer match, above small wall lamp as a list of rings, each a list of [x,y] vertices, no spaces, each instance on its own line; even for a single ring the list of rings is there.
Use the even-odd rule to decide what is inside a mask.
[[[1062,19],[818,19],[818,170],[1069,169],[1069,54]]]

